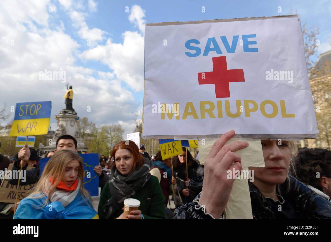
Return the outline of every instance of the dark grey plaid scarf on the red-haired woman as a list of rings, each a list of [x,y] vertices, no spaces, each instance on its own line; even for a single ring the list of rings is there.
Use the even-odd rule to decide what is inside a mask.
[[[122,211],[124,200],[133,197],[136,192],[146,184],[151,178],[149,170],[150,166],[145,162],[145,164],[136,171],[130,173],[128,176],[123,176],[116,169],[115,165],[112,167],[111,178],[108,181],[112,196],[103,206],[103,211],[107,213],[106,219],[110,219],[116,212]]]

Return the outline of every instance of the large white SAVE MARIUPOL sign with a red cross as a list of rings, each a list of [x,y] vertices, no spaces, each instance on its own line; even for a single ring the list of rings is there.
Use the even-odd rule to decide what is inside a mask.
[[[316,138],[298,15],[145,27],[144,138]]]

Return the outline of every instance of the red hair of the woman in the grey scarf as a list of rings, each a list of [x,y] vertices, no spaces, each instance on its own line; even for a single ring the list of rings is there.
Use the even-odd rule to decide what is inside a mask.
[[[140,154],[139,148],[135,142],[127,140],[118,142],[112,152],[110,153],[110,159],[108,166],[112,167],[115,164],[115,153],[118,149],[128,149],[133,156],[133,170],[142,167],[145,164],[145,158]],[[114,162],[110,165],[110,162],[114,158]]]

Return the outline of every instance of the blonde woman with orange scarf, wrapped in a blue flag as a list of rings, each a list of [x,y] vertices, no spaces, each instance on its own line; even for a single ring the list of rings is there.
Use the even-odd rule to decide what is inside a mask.
[[[98,219],[83,187],[83,159],[75,150],[58,150],[14,219]]]

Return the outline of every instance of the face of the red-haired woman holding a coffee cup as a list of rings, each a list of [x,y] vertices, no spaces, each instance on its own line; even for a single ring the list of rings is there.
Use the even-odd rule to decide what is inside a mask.
[[[128,149],[118,149],[115,152],[115,165],[122,175],[128,175],[133,170],[133,155]]]

